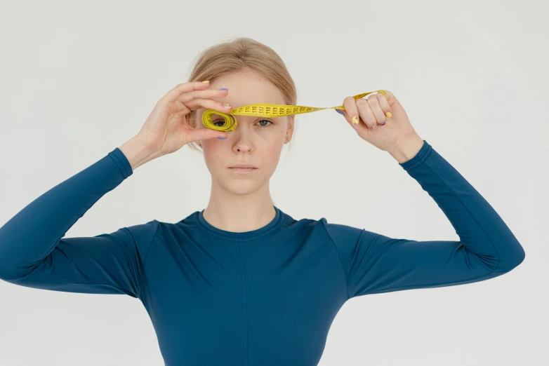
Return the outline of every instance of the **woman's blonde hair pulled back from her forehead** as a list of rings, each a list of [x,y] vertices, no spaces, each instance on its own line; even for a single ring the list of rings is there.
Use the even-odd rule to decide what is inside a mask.
[[[286,104],[297,104],[297,91],[293,79],[282,58],[269,46],[248,37],[219,43],[206,48],[197,56],[188,81],[213,81],[218,76],[231,72],[253,70],[274,84],[284,96]],[[187,114],[191,127],[196,127],[196,111]],[[294,128],[295,134],[295,128]],[[290,140],[290,144],[293,138]],[[190,142],[190,149],[202,152],[196,142]]]

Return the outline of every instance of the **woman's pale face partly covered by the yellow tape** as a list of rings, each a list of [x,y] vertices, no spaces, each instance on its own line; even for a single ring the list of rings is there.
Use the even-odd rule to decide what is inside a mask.
[[[280,90],[256,72],[225,74],[210,84],[210,89],[228,89],[226,97],[213,99],[231,104],[232,108],[256,103],[286,104]],[[206,128],[202,123],[204,111],[206,108],[196,111],[196,128]],[[211,117],[214,122],[220,119],[219,126],[225,123],[216,114]],[[277,168],[286,137],[291,140],[293,117],[234,116],[237,128],[227,132],[226,140],[199,141],[214,181],[212,184],[220,184],[234,194],[249,194],[264,187]],[[241,163],[249,163],[256,169],[239,173],[230,168]]]

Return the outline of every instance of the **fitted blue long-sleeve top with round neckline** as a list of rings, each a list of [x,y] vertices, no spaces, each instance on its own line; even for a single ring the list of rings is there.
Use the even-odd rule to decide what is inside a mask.
[[[132,175],[118,148],[0,228],[0,278],[64,292],[127,294],[150,315],[166,366],[317,365],[352,297],[474,283],[511,271],[524,250],[503,219],[430,144],[399,163],[459,240],[390,238],[326,219],[276,217],[224,231],[193,212],[93,237],[65,233]]]

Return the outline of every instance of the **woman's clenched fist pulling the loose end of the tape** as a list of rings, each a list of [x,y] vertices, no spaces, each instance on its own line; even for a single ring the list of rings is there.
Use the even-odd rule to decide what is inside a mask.
[[[402,142],[416,137],[417,133],[395,95],[389,90],[385,91],[386,98],[379,92],[366,99],[346,97],[343,100],[345,111],[340,112],[363,140],[378,149],[390,151]],[[386,115],[387,112],[390,117]],[[353,116],[357,116],[356,125],[352,121]]]

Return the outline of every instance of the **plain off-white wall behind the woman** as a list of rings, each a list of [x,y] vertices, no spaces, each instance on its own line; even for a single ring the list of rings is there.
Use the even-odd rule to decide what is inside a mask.
[[[327,365],[548,365],[549,27],[544,1],[1,1],[0,226],[133,137],[204,48],[249,36],[289,68],[298,104],[386,89],[494,207],[526,259],[479,283],[350,299]],[[435,201],[333,110],[296,117],[271,179],[295,219],[458,240]],[[206,207],[188,147],[137,168],[67,236]],[[0,365],[163,365],[138,299],[0,281]]]

